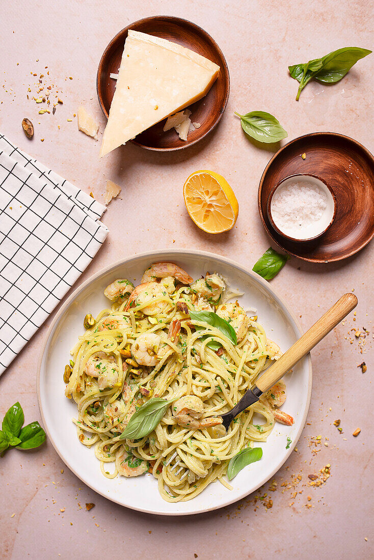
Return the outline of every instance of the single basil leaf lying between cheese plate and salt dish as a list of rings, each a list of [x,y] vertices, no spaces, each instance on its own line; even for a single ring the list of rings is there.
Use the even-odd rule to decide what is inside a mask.
[[[279,120],[265,111],[251,111],[246,115],[239,115],[242,129],[248,136],[258,142],[267,144],[279,142],[288,136],[287,132],[281,127]]]

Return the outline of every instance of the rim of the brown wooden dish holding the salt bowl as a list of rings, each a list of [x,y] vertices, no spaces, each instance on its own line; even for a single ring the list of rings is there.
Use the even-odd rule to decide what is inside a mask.
[[[260,214],[260,219],[261,219],[262,225],[265,228],[265,231],[266,231],[267,235],[269,235],[270,239],[275,243],[275,245],[277,247],[279,247],[282,251],[284,251],[288,255],[294,256],[296,259],[304,260],[308,263],[321,263],[321,264],[323,263],[323,264],[326,264],[326,263],[339,262],[340,260],[348,259],[350,256],[355,255],[356,253],[361,251],[361,249],[366,247],[366,245],[368,245],[368,243],[370,243],[370,241],[374,237],[374,228],[373,228],[373,231],[372,231],[371,235],[369,235],[367,239],[364,239],[362,241],[361,245],[359,245],[358,247],[355,247],[354,249],[350,250],[349,253],[347,253],[346,255],[343,255],[343,256],[333,255],[333,256],[330,256],[329,259],[311,258],[310,253],[298,254],[298,253],[295,253],[295,251],[293,249],[285,248],[283,245],[281,245],[281,242],[275,238],[273,232],[267,226],[267,223],[266,223],[265,218],[264,218],[264,213],[262,212],[262,205],[261,205],[262,186],[264,185],[264,180],[265,180],[267,171],[269,171],[270,166],[273,164],[274,160],[280,155],[280,153],[282,153],[284,150],[286,150],[290,146],[290,144],[293,144],[295,142],[298,142],[298,141],[302,140],[303,138],[307,138],[307,137],[311,137],[311,136],[316,136],[316,137],[318,137],[318,136],[336,136],[337,138],[341,138],[341,139],[344,139],[345,141],[352,142],[353,144],[355,144],[355,146],[357,148],[359,148],[359,150],[362,150],[365,153],[365,155],[374,163],[374,156],[370,152],[370,150],[368,150],[365,146],[363,146],[363,144],[361,144],[360,142],[358,142],[354,138],[352,138],[350,136],[347,136],[345,134],[340,134],[339,132],[329,132],[329,130],[320,130],[320,131],[317,131],[317,132],[309,132],[307,134],[302,134],[301,136],[297,136],[296,138],[293,138],[292,140],[287,142],[287,144],[284,144],[284,146],[281,146],[279,148],[279,150],[277,152],[275,152],[273,157],[270,158],[270,160],[267,163],[264,171],[262,171],[260,183],[258,184],[258,192],[257,192],[258,213]]]

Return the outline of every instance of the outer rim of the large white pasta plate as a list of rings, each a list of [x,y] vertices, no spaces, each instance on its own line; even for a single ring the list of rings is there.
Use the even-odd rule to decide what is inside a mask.
[[[267,478],[263,479],[256,486],[256,488],[253,488],[250,491],[244,491],[240,494],[240,496],[233,497],[231,500],[225,501],[225,503],[223,503],[221,505],[213,506],[213,507],[208,506],[208,507],[204,507],[204,508],[200,508],[200,509],[193,510],[193,511],[188,511],[188,512],[183,512],[183,511],[182,512],[181,511],[157,512],[157,511],[154,511],[154,510],[147,510],[146,508],[142,508],[142,507],[124,505],[120,500],[116,500],[112,496],[107,496],[107,494],[105,494],[104,492],[101,492],[97,488],[94,488],[90,483],[88,483],[87,480],[81,476],[81,474],[77,473],[76,470],[73,469],[72,466],[70,465],[68,459],[66,459],[66,457],[64,457],[60,453],[56,442],[53,440],[52,436],[50,435],[48,425],[45,421],[43,408],[41,407],[40,376],[41,376],[41,365],[42,365],[42,362],[43,362],[44,353],[45,353],[45,350],[46,350],[47,345],[49,343],[50,335],[53,333],[53,330],[54,330],[55,326],[57,325],[58,321],[61,319],[62,315],[67,310],[67,308],[73,303],[75,298],[77,296],[79,296],[80,293],[83,292],[87,286],[89,286],[90,283],[95,282],[98,278],[100,278],[100,276],[104,276],[104,274],[107,274],[108,272],[110,272],[110,270],[114,270],[117,267],[119,267],[123,264],[126,264],[128,261],[132,261],[132,260],[135,260],[135,259],[142,259],[142,258],[153,258],[156,255],[160,255],[160,254],[164,254],[164,253],[172,254],[172,255],[174,254],[176,260],[178,260],[178,258],[183,258],[183,255],[189,255],[189,256],[195,255],[197,257],[206,257],[206,258],[218,259],[218,260],[221,260],[222,262],[224,262],[225,264],[229,264],[233,268],[236,268],[236,269],[240,270],[244,274],[247,274],[248,276],[253,277],[256,280],[256,282],[260,283],[262,285],[262,287],[264,287],[267,291],[269,291],[269,289],[270,289],[270,292],[272,293],[272,295],[275,297],[276,300],[278,300],[278,303],[281,304],[281,307],[283,307],[283,311],[286,312],[286,314],[289,315],[290,319],[293,320],[293,323],[296,326],[297,330],[299,331],[300,336],[303,334],[304,331],[301,328],[301,325],[299,323],[299,320],[298,320],[297,316],[291,310],[291,305],[288,305],[285,302],[284,298],[282,296],[280,296],[280,294],[278,293],[278,291],[274,287],[269,287],[269,282],[267,282],[264,278],[262,278],[256,272],[253,272],[253,270],[248,269],[246,266],[244,266],[244,265],[242,265],[242,264],[240,264],[240,263],[238,263],[238,262],[236,262],[232,259],[229,259],[226,256],[218,255],[218,254],[215,254],[215,253],[210,253],[209,251],[201,251],[201,250],[198,250],[198,249],[177,249],[177,248],[172,248],[172,249],[169,248],[168,249],[168,248],[165,248],[165,249],[156,249],[156,250],[153,250],[153,251],[145,251],[144,253],[133,254],[133,255],[128,256],[127,258],[119,259],[115,263],[109,264],[106,267],[103,267],[98,272],[94,273],[89,278],[87,278],[79,286],[77,286],[77,288],[71,293],[71,295],[66,299],[66,301],[63,302],[61,307],[56,312],[56,315],[53,317],[52,322],[49,325],[48,331],[45,334],[44,342],[41,346],[41,350],[40,350],[40,354],[39,354],[39,360],[38,360],[38,366],[37,366],[37,370],[36,370],[36,396],[37,396],[37,399],[38,399],[38,407],[39,407],[39,412],[40,412],[40,416],[41,416],[41,421],[43,422],[45,432],[47,433],[49,441],[52,443],[52,445],[54,447],[54,450],[57,452],[58,456],[62,459],[62,461],[66,464],[66,466],[71,470],[71,472],[73,474],[75,474],[77,478],[79,478],[84,484],[86,484],[86,486],[91,488],[94,492],[100,494],[104,498],[107,498],[108,500],[110,500],[114,503],[118,503],[122,507],[127,507],[131,510],[141,511],[141,512],[144,512],[146,514],[167,515],[167,516],[195,515],[195,514],[202,514],[202,513],[207,512],[207,511],[218,510],[221,507],[229,506],[232,503],[235,503],[239,500],[242,500],[244,497],[248,496],[248,494],[256,492],[256,490],[258,488],[260,488],[260,486],[262,486],[262,484],[265,484],[267,482],[267,480],[270,480],[270,478],[273,477],[275,475],[275,473],[278,472],[278,470],[285,463],[285,461],[287,461],[289,459],[289,456],[292,454],[292,452],[294,450],[294,447],[297,445],[297,442],[298,442],[299,438],[301,437],[301,434],[304,430],[305,423],[307,421],[308,412],[309,412],[309,409],[310,409],[310,404],[311,404],[313,375],[312,375],[312,360],[311,360],[311,354],[310,353],[308,353],[305,356],[305,358],[307,359],[307,367],[308,367],[308,388],[307,388],[306,407],[304,409],[304,413],[303,413],[303,416],[302,416],[302,419],[301,419],[299,430],[298,430],[297,434],[294,436],[292,444],[290,445],[287,454],[284,456],[283,461],[281,461],[281,463],[278,463],[276,465],[276,467],[271,471],[271,473],[269,473],[269,475],[266,475]],[[172,258],[174,258],[174,256]]]

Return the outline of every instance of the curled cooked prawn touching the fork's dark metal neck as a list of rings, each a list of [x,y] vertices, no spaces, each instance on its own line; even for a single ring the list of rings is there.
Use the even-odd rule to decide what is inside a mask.
[[[222,418],[202,418],[203,415],[204,404],[198,396],[182,396],[173,404],[173,417],[183,428],[202,430],[222,423]]]

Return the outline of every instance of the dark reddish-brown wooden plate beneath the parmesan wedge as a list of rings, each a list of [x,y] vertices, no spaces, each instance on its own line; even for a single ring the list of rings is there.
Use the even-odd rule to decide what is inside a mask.
[[[182,20],[179,17],[152,16],[143,20],[135,21],[125,27],[110,41],[101,57],[96,89],[98,91],[99,103],[104,115],[108,118],[110,104],[112,103],[116,81],[110,78],[110,73],[118,73],[121,65],[124,41],[129,29],[155,35],[173,43],[185,46],[196,53],[209,58],[220,66],[221,71],[218,78],[210,88],[205,97],[188,107],[192,111],[192,122],[201,124],[200,128],[188,133],[187,141],[179,139],[176,130],[171,129],[163,132],[165,119],[153,127],[148,128],[135,139],[131,140],[137,146],[147,150],[172,151],[182,150],[192,146],[204,138],[219,123],[227,105],[230,91],[229,70],[225,57],[214,39],[204,29],[193,24],[191,21]]]

